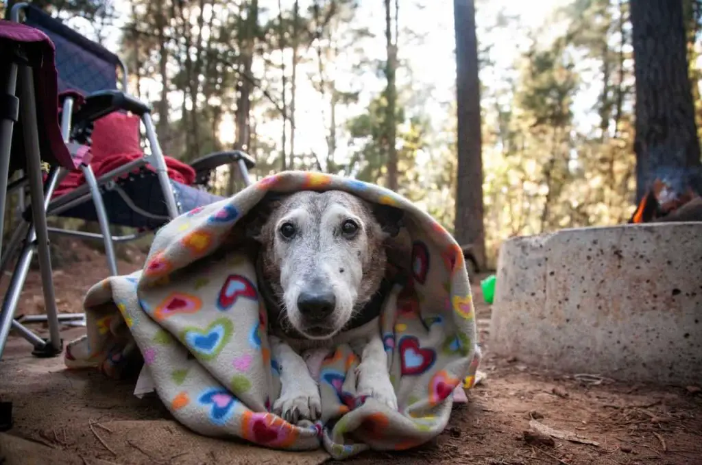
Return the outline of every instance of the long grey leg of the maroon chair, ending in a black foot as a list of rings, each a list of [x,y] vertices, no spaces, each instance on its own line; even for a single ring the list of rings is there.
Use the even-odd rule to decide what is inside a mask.
[[[53,287],[51,270],[51,255],[48,245],[48,230],[46,229],[46,204],[51,199],[51,191],[55,179],[49,185],[49,191],[44,197],[44,186],[41,182],[41,157],[39,155],[39,127],[37,126],[37,103],[34,98],[34,77],[30,67],[20,67],[23,97],[21,101],[22,129],[24,132],[25,152],[27,157],[27,176],[29,177],[29,197],[32,202],[32,219],[34,232],[37,236],[37,253],[41,273],[41,288],[44,291],[44,310],[48,319],[49,339],[46,345],[46,355],[58,355],[63,351],[63,343],[58,325],[58,309]],[[58,172],[54,173],[58,177]]]

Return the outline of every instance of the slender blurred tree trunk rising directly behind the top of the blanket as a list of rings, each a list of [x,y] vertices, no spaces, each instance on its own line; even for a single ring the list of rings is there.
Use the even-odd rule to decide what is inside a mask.
[[[395,24],[397,24],[397,4],[395,4]],[[397,71],[397,37],[392,40],[392,20],[390,16],[390,0],[385,0],[385,48],[388,61],[385,63],[385,78],[388,87],[385,89],[387,107],[385,109],[385,145],[388,150],[388,179],[386,185],[390,190],[397,190],[397,122],[395,107],[397,106],[397,89],[395,89],[395,72]]]

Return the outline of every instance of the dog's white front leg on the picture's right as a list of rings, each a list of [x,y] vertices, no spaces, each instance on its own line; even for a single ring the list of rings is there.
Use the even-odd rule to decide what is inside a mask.
[[[387,405],[390,410],[397,410],[397,395],[395,395],[395,388],[390,382],[388,355],[385,353],[380,334],[371,336],[371,339],[363,347],[361,363],[359,363],[356,373],[358,375],[357,395],[369,395]]]

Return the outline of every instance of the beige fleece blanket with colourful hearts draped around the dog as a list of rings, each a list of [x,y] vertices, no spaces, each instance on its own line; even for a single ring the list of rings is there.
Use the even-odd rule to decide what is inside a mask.
[[[271,413],[280,393],[254,263],[221,247],[269,191],[345,190],[403,209],[409,279],[385,301],[378,331],[399,409],[355,395],[350,346],[319,361],[322,419],[289,424]],[[322,173],[264,178],[230,199],[178,216],[154,237],[143,270],[95,284],[87,335],[67,346],[69,367],[121,376],[142,367],[176,419],[203,435],[288,450],[324,447],[343,459],[404,450],[442,432],[453,391],[470,388],[480,360],[461,248],[428,214],[376,185]]]

